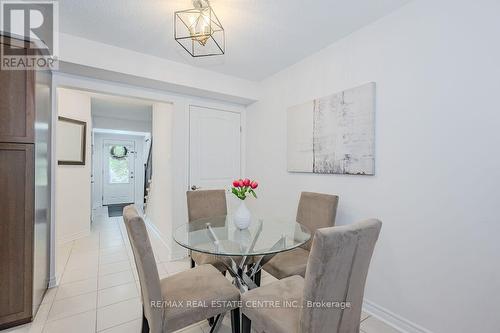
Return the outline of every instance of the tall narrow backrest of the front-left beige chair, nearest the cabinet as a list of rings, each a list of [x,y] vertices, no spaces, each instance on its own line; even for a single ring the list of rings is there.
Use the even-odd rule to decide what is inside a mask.
[[[160,302],[163,298],[158,269],[156,268],[146,225],[133,205],[123,209],[123,220],[134,253],[137,273],[139,274],[144,316],[148,320],[150,332],[159,333],[162,331],[164,309],[163,304]],[[156,302],[160,304],[158,305]]]

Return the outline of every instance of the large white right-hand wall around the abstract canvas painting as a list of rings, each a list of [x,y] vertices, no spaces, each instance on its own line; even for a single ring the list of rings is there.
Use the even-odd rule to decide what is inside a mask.
[[[500,330],[498,13],[493,0],[414,1],[265,80],[248,109],[254,209],[293,218],[308,190],[340,195],[338,224],[380,218],[365,296],[407,330]],[[287,173],[287,107],[369,81],[376,176]]]

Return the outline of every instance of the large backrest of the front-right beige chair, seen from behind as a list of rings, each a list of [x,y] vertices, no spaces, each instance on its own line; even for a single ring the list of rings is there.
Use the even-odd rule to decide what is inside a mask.
[[[381,227],[382,222],[369,219],[316,231],[305,275],[300,332],[359,332],[366,276]]]

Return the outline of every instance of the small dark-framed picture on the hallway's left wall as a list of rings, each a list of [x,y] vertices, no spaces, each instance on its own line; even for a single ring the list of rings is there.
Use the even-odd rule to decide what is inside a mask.
[[[59,117],[57,124],[57,164],[85,165],[87,123]]]

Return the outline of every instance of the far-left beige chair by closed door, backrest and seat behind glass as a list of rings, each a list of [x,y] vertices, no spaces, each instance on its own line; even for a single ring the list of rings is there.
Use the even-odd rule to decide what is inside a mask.
[[[227,215],[226,192],[224,190],[197,190],[187,191],[187,206],[189,222],[210,217],[222,217]],[[222,220],[224,223],[225,220]],[[219,271],[225,272],[226,266],[222,260],[224,257],[211,254],[190,251],[191,267],[211,264]]]

